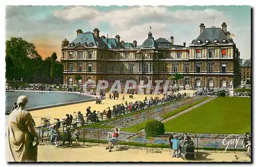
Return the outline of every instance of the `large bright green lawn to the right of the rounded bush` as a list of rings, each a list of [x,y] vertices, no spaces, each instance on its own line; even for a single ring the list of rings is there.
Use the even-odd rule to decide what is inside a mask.
[[[166,132],[243,134],[251,130],[250,98],[216,98],[164,123]]]

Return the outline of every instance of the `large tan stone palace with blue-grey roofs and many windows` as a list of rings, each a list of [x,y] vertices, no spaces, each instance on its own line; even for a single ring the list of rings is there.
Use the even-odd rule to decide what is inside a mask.
[[[99,30],[83,33],[77,30],[77,37],[69,42],[62,41],[61,63],[63,84],[82,85],[86,81],[107,80],[111,86],[119,80],[124,86],[126,80],[143,80],[155,84],[155,80],[167,80],[177,86],[173,75],[182,74],[178,85],[186,89],[202,87],[228,87],[229,82],[237,86],[241,80],[239,51],[227,32],[225,22],[222,28],[205,28],[200,25],[200,35],[189,47],[174,44],[164,38],[155,39],[151,32],[142,45],[120,41],[120,36],[106,38]],[[76,80],[77,76],[82,79]],[[96,83],[97,84],[97,83]]]

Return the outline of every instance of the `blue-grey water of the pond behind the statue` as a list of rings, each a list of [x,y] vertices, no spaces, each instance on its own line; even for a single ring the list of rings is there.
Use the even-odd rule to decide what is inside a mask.
[[[28,92],[28,91],[7,91],[6,92],[6,110],[11,110],[19,96],[27,96],[29,99],[26,108],[35,108],[82,100],[94,99],[79,93],[60,93],[60,92]]]

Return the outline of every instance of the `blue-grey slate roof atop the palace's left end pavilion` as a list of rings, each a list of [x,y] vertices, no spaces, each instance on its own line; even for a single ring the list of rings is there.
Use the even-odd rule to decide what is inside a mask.
[[[94,36],[94,33],[92,33],[92,32],[81,33],[72,42],[75,45],[77,43],[80,43],[81,45],[83,43],[86,43],[86,45],[89,45],[89,43],[93,43],[93,45],[96,45],[99,47],[106,46],[106,44],[103,42],[103,40],[101,38],[96,39],[96,37]]]

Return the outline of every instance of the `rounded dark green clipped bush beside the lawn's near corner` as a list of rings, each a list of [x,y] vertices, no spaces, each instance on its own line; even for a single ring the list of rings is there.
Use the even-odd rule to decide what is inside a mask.
[[[147,135],[163,135],[164,125],[160,121],[152,120],[146,123],[145,132]]]

